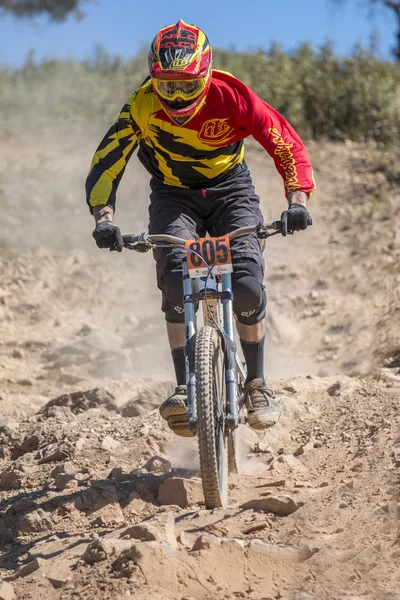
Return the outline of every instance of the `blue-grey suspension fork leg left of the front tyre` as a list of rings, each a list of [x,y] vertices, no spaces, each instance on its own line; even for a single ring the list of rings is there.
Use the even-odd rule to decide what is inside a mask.
[[[194,371],[194,343],[196,339],[196,312],[193,280],[189,277],[187,260],[182,260],[183,306],[185,309],[185,363],[186,390],[188,398],[189,429],[195,434],[197,429],[196,379]]]

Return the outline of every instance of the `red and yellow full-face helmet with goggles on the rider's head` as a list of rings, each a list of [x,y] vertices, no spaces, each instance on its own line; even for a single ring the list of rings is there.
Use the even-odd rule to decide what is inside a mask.
[[[180,20],[160,29],[149,52],[154,93],[168,116],[183,124],[200,110],[211,83],[211,47],[205,33]]]

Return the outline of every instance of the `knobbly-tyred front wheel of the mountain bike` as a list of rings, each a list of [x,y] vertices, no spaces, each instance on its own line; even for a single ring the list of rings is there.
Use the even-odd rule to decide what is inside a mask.
[[[197,434],[206,508],[228,502],[228,440],[225,435],[224,357],[217,331],[205,325],[196,335]]]

